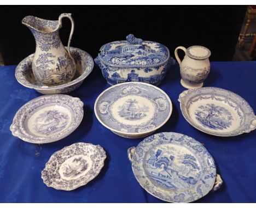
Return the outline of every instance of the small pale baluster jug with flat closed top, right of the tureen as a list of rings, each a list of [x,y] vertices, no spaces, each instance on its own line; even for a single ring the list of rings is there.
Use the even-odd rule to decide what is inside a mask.
[[[178,50],[185,52],[184,59],[181,61],[178,56]],[[203,86],[203,81],[210,72],[211,56],[210,50],[203,46],[191,46],[188,49],[179,46],[174,51],[175,57],[181,70],[181,84],[187,89],[196,89]]]

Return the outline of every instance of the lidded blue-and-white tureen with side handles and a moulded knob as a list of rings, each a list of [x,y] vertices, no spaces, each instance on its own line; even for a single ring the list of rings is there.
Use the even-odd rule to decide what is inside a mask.
[[[168,48],[158,42],[143,41],[133,34],[100,48],[95,63],[108,84],[146,82],[158,85],[167,68],[174,64]]]

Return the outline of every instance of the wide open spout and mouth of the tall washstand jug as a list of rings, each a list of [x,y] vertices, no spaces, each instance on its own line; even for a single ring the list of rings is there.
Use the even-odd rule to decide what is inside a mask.
[[[60,28],[59,21],[44,20],[31,15],[24,17],[22,24],[40,33],[53,33]]]

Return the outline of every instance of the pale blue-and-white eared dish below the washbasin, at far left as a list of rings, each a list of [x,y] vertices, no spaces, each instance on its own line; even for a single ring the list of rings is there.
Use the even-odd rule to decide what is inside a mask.
[[[43,95],[22,106],[10,131],[25,142],[43,144],[67,137],[80,125],[84,103],[69,95]]]

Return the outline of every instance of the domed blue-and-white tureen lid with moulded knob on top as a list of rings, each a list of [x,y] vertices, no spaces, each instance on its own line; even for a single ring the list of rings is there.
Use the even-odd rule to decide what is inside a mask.
[[[112,66],[157,66],[169,59],[166,46],[153,41],[144,41],[127,35],[126,40],[105,44],[100,49],[98,58],[101,62]]]

